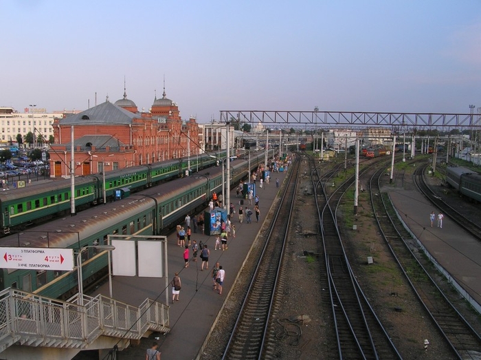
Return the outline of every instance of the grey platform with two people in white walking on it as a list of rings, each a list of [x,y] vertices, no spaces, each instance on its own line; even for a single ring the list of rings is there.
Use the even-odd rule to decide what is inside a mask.
[[[446,215],[442,228],[438,227],[439,209],[418,191],[399,188],[388,191],[403,222],[421,242],[426,253],[451,282],[458,284],[455,284],[458,290],[468,295],[471,305],[481,311],[481,242]],[[436,213],[436,220],[431,227],[429,214],[432,211]]]

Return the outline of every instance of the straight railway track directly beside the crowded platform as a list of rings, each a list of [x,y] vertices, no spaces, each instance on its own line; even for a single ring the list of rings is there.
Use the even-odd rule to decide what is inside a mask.
[[[271,311],[276,308],[276,291],[282,291],[280,274],[290,226],[300,162],[296,161],[284,189],[280,206],[267,231],[267,240],[258,266],[249,284],[230,336],[223,359],[261,359],[268,356],[276,344],[275,336],[269,331]]]

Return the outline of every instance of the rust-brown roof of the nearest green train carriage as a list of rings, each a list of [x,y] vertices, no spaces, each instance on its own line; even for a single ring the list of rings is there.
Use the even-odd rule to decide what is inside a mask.
[[[112,224],[128,220],[134,214],[150,209],[154,204],[150,198],[132,195],[124,200],[87,209],[72,217],[54,220],[29,231],[3,237],[0,239],[0,247],[66,248]]]

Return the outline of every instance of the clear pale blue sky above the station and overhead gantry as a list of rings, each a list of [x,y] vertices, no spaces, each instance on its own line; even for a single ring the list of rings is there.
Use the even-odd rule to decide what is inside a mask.
[[[480,0],[1,0],[0,106],[469,113]],[[477,109],[475,110],[477,112]]]

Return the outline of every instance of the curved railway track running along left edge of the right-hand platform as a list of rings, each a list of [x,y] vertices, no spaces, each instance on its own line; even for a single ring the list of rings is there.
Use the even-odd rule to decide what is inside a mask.
[[[418,171],[422,171],[420,167]],[[394,215],[394,209],[386,193],[381,193],[383,171],[374,173],[370,180],[370,199],[374,215],[385,243],[403,271],[407,282],[423,304],[427,314],[451,349],[451,356],[458,359],[478,359],[481,354],[481,337],[449,301],[433,277],[429,264],[411,250],[410,234]],[[416,174],[415,177],[419,175]],[[422,260],[421,260],[422,259]],[[421,264],[423,261],[425,264]]]

